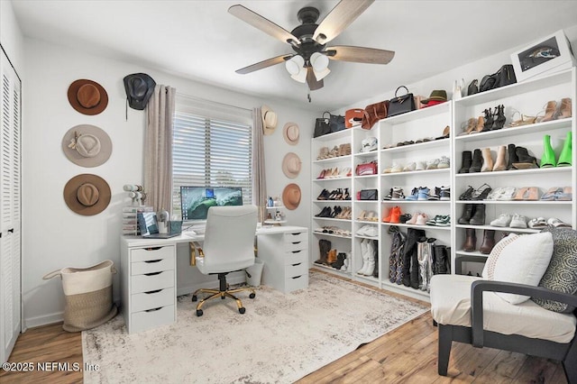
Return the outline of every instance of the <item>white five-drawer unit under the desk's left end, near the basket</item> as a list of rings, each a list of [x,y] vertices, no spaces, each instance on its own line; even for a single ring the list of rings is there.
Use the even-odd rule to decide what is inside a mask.
[[[122,311],[129,334],[176,322],[175,263],[175,244],[122,247]]]

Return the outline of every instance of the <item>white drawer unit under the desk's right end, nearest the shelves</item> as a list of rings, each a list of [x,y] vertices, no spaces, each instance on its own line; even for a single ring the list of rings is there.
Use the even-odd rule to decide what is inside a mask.
[[[263,284],[284,293],[308,287],[306,229],[259,236],[258,256],[264,261]]]

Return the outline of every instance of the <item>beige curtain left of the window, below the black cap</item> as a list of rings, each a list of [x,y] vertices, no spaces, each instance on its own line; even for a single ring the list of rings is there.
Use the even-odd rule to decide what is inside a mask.
[[[157,85],[147,105],[144,134],[146,206],[172,211],[172,117],[176,89]]]

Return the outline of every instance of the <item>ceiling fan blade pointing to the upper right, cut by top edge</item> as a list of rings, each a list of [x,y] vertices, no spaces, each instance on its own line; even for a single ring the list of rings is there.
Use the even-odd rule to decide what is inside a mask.
[[[333,40],[373,2],[374,0],[341,0],[318,24],[313,39],[319,44]]]

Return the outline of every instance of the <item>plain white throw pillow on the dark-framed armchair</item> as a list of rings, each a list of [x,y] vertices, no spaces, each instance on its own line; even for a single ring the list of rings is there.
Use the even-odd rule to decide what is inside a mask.
[[[543,278],[553,255],[551,233],[533,233],[518,236],[510,242],[495,263],[493,279],[536,287]],[[511,304],[521,304],[528,296],[496,293]]]

